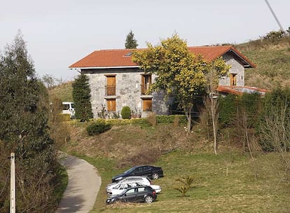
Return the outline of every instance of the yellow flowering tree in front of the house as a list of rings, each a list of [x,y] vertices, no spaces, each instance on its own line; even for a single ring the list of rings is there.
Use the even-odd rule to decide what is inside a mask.
[[[177,34],[161,40],[158,46],[147,43],[146,50],[134,51],[132,60],[145,72],[157,74],[149,92],[164,90],[168,95],[177,97],[179,107],[186,114],[189,132],[194,99],[205,90],[205,74],[212,62],[189,52],[186,41]]]

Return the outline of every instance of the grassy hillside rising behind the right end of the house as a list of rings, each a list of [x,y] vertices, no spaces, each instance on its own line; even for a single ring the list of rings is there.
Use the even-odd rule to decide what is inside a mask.
[[[237,49],[246,55],[255,69],[246,69],[246,85],[272,89],[290,85],[290,37],[279,41],[249,41],[237,45]]]

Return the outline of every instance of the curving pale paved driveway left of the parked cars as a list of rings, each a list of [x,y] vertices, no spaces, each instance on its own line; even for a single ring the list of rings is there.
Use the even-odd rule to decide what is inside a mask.
[[[74,156],[62,157],[60,163],[67,169],[69,183],[56,213],[90,212],[102,183],[97,169]]]

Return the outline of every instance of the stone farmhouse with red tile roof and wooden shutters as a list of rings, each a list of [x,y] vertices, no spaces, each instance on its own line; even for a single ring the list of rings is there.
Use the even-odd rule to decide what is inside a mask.
[[[244,69],[255,67],[233,46],[197,46],[188,47],[188,50],[194,55],[202,55],[208,61],[222,56],[230,64],[228,75],[219,80],[220,86],[243,87]],[[96,50],[69,66],[69,69],[76,69],[89,77],[94,118],[102,110],[111,115],[120,114],[125,106],[141,117],[146,117],[150,112],[169,113],[170,99],[165,100],[162,92],[146,95],[156,75],[139,69],[132,62],[132,51]],[[223,88],[219,87],[219,90],[222,92]]]

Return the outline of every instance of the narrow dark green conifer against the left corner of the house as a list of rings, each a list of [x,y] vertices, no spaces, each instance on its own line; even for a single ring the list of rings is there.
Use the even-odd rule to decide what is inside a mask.
[[[92,118],[92,105],[90,103],[90,84],[88,76],[81,74],[76,78],[73,87],[74,108],[76,119],[81,122]]]

